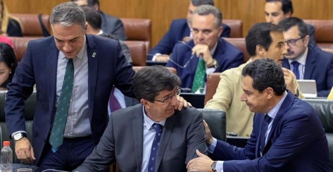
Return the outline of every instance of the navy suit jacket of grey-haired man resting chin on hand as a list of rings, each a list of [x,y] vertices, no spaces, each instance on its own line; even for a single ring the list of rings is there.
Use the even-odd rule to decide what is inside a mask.
[[[194,47],[193,40],[188,41],[186,44],[189,47]],[[192,56],[192,51],[187,45],[179,43],[173,50],[171,58],[179,65],[184,65]],[[218,68],[215,72],[223,72],[243,64],[244,55],[228,41],[223,38],[218,38],[213,58],[216,59],[218,63]],[[167,66],[177,69],[177,75],[182,79],[182,88],[191,89],[198,61],[199,58],[195,56],[186,68],[180,68],[169,60]]]

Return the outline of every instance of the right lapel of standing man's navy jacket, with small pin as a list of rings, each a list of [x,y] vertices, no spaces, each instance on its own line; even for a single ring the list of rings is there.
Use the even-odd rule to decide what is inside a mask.
[[[97,80],[97,69],[98,69],[98,51],[95,49],[95,42],[90,36],[86,35],[87,44],[87,56],[88,56],[88,106],[89,106],[89,117],[91,117],[94,111],[94,97]]]

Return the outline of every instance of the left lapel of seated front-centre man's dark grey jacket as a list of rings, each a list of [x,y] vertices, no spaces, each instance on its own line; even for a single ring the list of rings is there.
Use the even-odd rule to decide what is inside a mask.
[[[134,114],[135,118],[133,119],[133,141],[135,149],[135,159],[138,171],[141,170],[142,164],[142,149],[143,149],[143,112],[142,105],[138,106],[138,112]]]

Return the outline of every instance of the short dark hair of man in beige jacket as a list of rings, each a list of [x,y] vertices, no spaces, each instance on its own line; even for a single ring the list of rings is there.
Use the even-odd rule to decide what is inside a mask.
[[[256,55],[256,46],[262,46],[266,51],[272,43],[271,32],[282,32],[282,28],[272,23],[254,24],[245,37],[246,50],[250,56]]]

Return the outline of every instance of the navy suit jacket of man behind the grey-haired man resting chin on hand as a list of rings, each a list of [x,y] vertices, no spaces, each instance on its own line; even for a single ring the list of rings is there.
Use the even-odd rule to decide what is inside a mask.
[[[230,37],[230,27],[226,24],[222,24],[223,32],[221,37]],[[152,48],[147,56],[147,60],[151,60],[154,54],[170,54],[178,43],[183,40],[185,36],[190,35],[190,28],[186,19],[177,19],[171,22],[170,28],[167,33],[164,34],[158,44]]]

